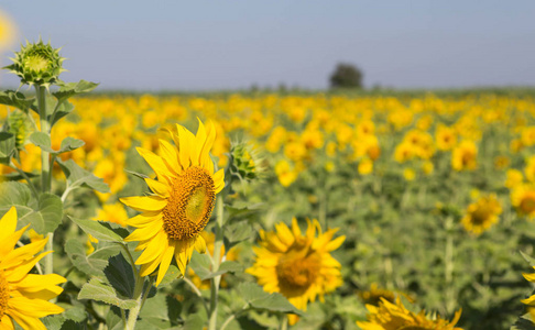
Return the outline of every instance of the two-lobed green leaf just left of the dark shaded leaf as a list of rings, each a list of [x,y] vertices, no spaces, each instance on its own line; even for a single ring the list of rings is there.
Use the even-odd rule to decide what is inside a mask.
[[[85,244],[79,239],[70,239],[65,244],[65,252],[73,265],[81,273],[103,277],[109,257],[119,254],[121,250],[119,245],[109,245],[87,255]]]

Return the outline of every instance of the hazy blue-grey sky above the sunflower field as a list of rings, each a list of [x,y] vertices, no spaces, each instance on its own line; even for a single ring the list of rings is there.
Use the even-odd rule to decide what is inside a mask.
[[[21,40],[100,89],[326,88],[338,62],[364,85],[535,85],[535,1],[7,0]],[[18,46],[15,46],[18,50]],[[4,52],[0,64],[7,65]],[[17,86],[0,73],[2,86]]]

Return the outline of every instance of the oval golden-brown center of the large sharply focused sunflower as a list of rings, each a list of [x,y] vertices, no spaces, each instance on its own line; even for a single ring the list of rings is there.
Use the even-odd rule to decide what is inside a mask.
[[[210,220],[216,204],[216,186],[205,168],[187,168],[172,183],[163,209],[164,230],[173,240],[195,238]]]

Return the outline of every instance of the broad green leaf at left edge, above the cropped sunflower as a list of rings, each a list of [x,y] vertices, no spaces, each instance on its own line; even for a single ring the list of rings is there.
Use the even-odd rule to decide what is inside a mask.
[[[26,185],[14,182],[2,183],[0,184],[0,216],[3,216],[12,206],[17,208],[18,228],[31,223],[37,233],[46,234],[62,223],[63,202],[59,197],[45,193],[35,200]]]

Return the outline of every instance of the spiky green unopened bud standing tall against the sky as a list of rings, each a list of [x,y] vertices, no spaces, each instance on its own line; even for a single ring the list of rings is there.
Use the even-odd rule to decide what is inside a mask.
[[[29,43],[21,45],[21,51],[15,53],[12,65],[6,66],[10,73],[18,75],[22,84],[48,87],[59,80],[59,74],[65,72],[62,67],[64,57],[59,56],[61,48],[53,48],[50,44]]]

